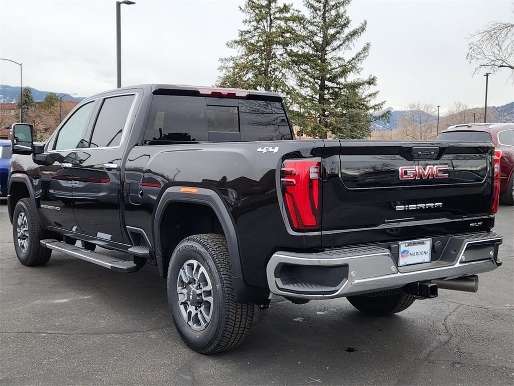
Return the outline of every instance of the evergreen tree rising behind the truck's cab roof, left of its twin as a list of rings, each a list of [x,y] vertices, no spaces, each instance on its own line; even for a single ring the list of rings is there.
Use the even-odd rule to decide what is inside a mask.
[[[298,41],[300,14],[277,0],[246,0],[240,10],[246,28],[227,43],[237,55],[220,59],[222,76],[217,85],[288,94],[288,51]]]

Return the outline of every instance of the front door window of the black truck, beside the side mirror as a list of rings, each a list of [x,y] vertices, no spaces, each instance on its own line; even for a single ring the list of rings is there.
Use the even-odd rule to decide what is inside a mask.
[[[57,134],[54,150],[78,149],[85,147],[84,139],[89,118],[95,107],[95,102],[89,102],[80,107],[64,124]]]

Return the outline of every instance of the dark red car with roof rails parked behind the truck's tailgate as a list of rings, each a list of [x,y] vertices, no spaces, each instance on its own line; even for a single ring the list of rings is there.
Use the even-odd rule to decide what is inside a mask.
[[[450,126],[436,141],[492,141],[500,159],[500,203],[514,205],[514,124]]]

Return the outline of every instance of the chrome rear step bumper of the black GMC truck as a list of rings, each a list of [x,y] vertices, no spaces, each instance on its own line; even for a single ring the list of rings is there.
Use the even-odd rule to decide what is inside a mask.
[[[400,268],[389,249],[375,246],[311,254],[277,252],[266,273],[274,294],[334,299],[492,271],[501,265],[501,243],[497,232],[453,236],[439,260]]]

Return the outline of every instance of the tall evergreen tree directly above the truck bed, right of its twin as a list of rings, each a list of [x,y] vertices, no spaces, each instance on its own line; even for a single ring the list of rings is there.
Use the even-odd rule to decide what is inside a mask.
[[[306,135],[326,138],[366,138],[384,102],[373,102],[376,78],[360,78],[370,43],[354,50],[366,29],[351,27],[350,0],[304,0],[308,14],[302,23],[300,49],[293,56],[300,93],[294,95],[291,118]],[[346,55],[344,55],[346,54]]]

